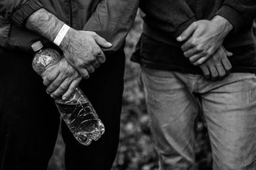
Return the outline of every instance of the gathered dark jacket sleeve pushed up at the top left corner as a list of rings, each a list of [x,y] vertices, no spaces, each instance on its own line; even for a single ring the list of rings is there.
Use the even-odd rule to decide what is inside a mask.
[[[33,12],[43,8],[39,0],[0,0],[0,15],[17,26],[24,26]]]

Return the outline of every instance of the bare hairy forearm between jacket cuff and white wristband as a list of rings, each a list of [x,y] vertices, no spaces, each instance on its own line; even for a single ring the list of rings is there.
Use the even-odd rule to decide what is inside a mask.
[[[27,29],[46,37],[51,42],[54,42],[63,25],[63,21],[43,8],[30,15],[26,22]]]

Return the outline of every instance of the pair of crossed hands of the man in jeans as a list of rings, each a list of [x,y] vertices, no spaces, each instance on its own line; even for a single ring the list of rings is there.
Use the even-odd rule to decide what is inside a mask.
[[[177,40],[183,42],[183,54],[193,65],[199,65],[205,78],[220,80],[230,73],[232,65],[222,46],[224,38],[233,29],[232,24],[221,16],[213,20],[199,20],[192,23]]]

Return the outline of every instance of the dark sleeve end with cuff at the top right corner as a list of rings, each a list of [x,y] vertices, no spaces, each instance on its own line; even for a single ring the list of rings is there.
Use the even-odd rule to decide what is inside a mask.
[[[216,15],[229,20],[234,27],[234,32],[238,32],[242,26],[251,24],[256,17],[256,1],[226,0]]]

